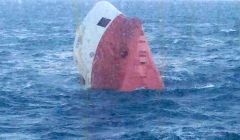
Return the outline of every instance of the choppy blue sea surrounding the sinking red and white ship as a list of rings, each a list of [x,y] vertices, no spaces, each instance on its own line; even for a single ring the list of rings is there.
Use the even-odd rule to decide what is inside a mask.
[[[91,0],[0,0],[0,139],[240,139],[240,1],[127,1],[166,85],[86,90],[73,61]]]

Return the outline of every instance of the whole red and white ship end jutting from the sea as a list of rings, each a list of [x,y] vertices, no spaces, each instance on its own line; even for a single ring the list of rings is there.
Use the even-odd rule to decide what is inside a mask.
[[[86,88],[164,88],[141,21],[107,1],[97,2],[78,28],[74,58]]]

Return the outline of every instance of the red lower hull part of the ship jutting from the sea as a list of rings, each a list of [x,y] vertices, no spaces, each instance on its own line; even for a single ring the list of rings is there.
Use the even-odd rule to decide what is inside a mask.
[[[94,89],[164,88],[138,19],[114,19],[97,47],[91,77]]]

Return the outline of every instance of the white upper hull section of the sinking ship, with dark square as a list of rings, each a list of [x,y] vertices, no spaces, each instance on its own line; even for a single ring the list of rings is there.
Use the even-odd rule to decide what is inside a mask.
[[[91,87],[93,60],[98,44],[108,26],[120,14],[121,12],[110,3],[100,1],[87,14],[76,32],[74,58],[86,88]]]

